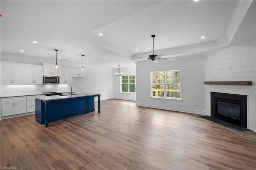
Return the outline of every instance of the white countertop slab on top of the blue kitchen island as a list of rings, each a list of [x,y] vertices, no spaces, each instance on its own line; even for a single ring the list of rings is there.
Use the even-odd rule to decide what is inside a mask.
[[[51,100],[60,100],[60,99],[69,99],[69,98],[76,98],[76,97],[86,97],[86,96],[99,96],[99,93],[78,93],[71,95],[53,95],[53,96],[42,96],[42,97],[35,97],[36,99],[42,101],[51,101]]]

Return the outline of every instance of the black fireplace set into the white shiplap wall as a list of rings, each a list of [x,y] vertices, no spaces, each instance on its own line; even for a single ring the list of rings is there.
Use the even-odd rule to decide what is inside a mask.
[[[211,117],[247,128],[247,95],[211,92]]]

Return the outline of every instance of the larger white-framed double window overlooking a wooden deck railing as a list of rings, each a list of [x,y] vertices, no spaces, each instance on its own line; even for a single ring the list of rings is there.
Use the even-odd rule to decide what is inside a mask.
[[[180,98],[180,70],[151,72],[151,97]]]

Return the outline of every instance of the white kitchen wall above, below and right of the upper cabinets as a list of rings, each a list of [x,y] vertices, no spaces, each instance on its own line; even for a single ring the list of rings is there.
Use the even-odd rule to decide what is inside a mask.
[[[1,61],[36,64],[55,63],[54,59],[45,59],[40,57],[31,57],[26,55],[17,55],[11,53],[1,53]],[[72,61],[58,61],[60,69],[62,67],[80,69],[79,63]],[[72,78],[73,91],[76,93],[101,93],[101,99],[112,99],[112,68],[91,67],[89,64],[84,65],[86,69],[84,78]],[[69,92],[71,85],[1,85],[0,96],[12,94],[33,94],[46,91]],[[29,91],[30,89],[30,91]]]

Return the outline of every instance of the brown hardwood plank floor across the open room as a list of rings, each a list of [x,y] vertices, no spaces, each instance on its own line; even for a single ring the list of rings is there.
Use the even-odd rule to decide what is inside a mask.
[[[255,132],[238,133],[198,116],[110,99],[101,102],[100,114],[55,121],[48,128],[36,123],[35,115],[1,120],[0,166],[18,170],[256,169]]]

